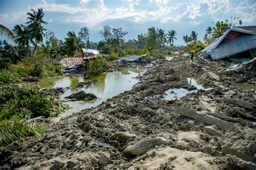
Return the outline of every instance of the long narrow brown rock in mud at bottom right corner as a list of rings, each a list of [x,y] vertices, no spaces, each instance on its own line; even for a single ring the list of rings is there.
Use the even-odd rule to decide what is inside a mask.
[[[221,151],[223,154],[231,154],[231,155],[234,155],[235,157],[238,157],[242,160],[245,160],[245,161],[251,161],[251,162],[254,162],[254,158],[250,155],[247,155],[246,153],[244,152],[241,152],[241,151],[238,151],[238,150],[235,150],[234,148],[231,148],[229,146],[224,146]]]

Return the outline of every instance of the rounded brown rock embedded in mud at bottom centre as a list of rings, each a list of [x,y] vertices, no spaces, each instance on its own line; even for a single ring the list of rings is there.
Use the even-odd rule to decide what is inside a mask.
[[[127,146],[123,152],[124,154],[143,155],[149,151],[152,146],[152,139],[145,138],[137,141],[137,143],[133,145]]]

